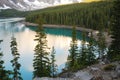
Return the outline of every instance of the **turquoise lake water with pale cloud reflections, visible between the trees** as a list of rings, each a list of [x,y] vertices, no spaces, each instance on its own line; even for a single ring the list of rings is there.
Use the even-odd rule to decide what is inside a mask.
[[[55,29],[45,28],[47,33],[48,47],[55,47],[56,50],[56,64],[59,67],[59,71],[64,67],[64,63],[67,60],[69,54],[69,46],[71,41],[70,29]],[[24,80],[32,80],[33,71],[33,54],[34,47],[36,45],[35,39],[35,27],[26,27],[20,22],[14,23],[0,23],[0,39],[3,42],[0,48],[4,54],[3,60],[5,61],[5,68],[12,70],[10,60],[12,60],[10,41],[12,35],[17,39],[18,51],[20,53],[21,74]],[[81,32],[77,31],[78,46],[81,44]]]

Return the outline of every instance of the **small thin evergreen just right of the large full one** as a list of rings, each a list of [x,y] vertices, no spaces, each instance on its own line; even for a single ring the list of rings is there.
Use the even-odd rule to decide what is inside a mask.
[[[57,73],[57,65],[55,64],[55,48],[52,47],[52,52],[51,52],[51,74],[52,74],[52,77],[55,77],[56,76],[56,73]]]

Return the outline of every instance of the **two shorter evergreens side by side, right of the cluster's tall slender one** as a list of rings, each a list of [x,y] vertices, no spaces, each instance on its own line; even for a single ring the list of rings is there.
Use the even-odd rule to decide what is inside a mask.
[[[79,68],[85,68],[87,66],[93,65],[97,62],[96,60],[96,45],[95,45],[95,40],[93,39],[93,35],[91,33],[91,37],[88,40],[86,40],[86,34],[83,32],[83,40],[82,40],[82,45],[79,51],[79,57],[78,57],[78,64]]]

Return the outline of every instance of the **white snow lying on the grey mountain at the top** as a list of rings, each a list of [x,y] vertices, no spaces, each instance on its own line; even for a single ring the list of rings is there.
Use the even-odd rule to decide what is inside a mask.
[[[8,0],[10,4],[16,6],[17,8],[21,8],[23,10],[36,10],[36,9],[42,9],[46,7],[51,7],[51,6],[57,6],[57,5],[62,5],[62,4],[71,4],[74,2],[74,0],[53,0],[53,3],[48,3],[44,1],[39,1],[39,0],[34,0],[34,1],[29,1],[29,0],[23,0],[23,2],[26,3],[26,5],[23,5],[22,3],[17,3],[15,4],[12,0]],[[82,0],[76,0],[77,2],[82,2]],[[0,7],[0,9],[8,9],[10,8],[7,5],[4,5],[4,7]]]

